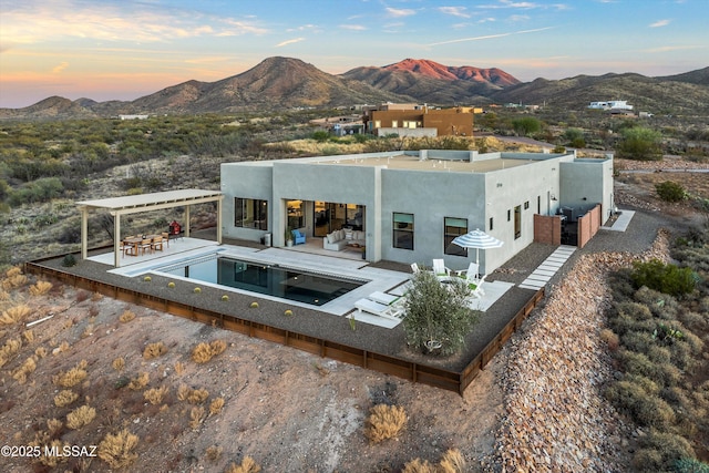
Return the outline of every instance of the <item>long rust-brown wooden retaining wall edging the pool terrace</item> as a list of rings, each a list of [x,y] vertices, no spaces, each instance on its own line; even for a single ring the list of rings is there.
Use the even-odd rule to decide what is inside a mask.
[[[133,289],[126,289],[107,282],[78,276],[60,269],[42,266],[38,261],[27,263],[25,273],[56,279],[61,282],[80,289],[99,292],[116,300],[147,307],[162,312],[172,313],[189,320],[213,325],[227,330],[236,331],[248,337],[273,341],[286,347],[297,348],[320,357],[354,364],[384,374],[395,376],[409,381],[420,382],[435,388],[455,391],[461,395],[465,388],[477,377],[480,371],[502,349],[512,335],[520,328],[524,319],[534,307],[544,298],[544,288],[540,289],[525,304],[525,306],[503,327],[497,336],[461,371],[450,371],[438,367],[431,367],[413,361],[403,360],[388,354],[368,351],[361,348],[350,347],[335,341],[311,337],[265,323],[242,319],[213,310],[194,307],[175,300],[151,296]]]

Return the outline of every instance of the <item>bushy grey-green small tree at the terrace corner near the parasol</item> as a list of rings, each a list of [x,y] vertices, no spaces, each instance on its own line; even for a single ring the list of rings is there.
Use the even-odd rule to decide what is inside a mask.
[[[465,336],[480,311],[469,307],[470,289],[463,280],[442,285],[431,271],[418,271],[407,295],[403,328],[410,346],[427,352],[452,354],[465,345]]]

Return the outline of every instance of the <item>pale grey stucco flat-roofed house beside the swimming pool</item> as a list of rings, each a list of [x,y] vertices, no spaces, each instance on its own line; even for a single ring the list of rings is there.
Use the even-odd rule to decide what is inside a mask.
[[[475,251],[451,241],[480,228],[504,241],[480,253],[490,273],[534,240],[535,214],[577,218],[599,204],[605,222],[613,157],[423,150],[225,163],[222,192],[226,237],[284,246],[288,227],[310,243],[350,228],[363,232],[369,261],[443,257],[462,269]]]

